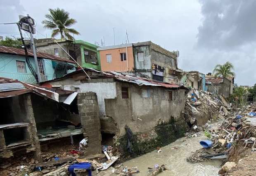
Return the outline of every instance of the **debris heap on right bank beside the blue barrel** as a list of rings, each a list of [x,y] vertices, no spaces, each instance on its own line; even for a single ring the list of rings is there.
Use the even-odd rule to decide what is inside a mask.
[[[243,108],[220,106],[219,112],[226,115],[223,122],[215,130],[205,128],[204,131],[212,146],[195,151],[187,161],[224,159],[219,174],[226,174],[234,171],[235,168],[241,169],[235,167],[237,162],[256,151],[256,104]],[[256,164],[253,167],[255,168]]]

